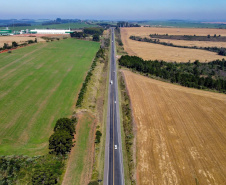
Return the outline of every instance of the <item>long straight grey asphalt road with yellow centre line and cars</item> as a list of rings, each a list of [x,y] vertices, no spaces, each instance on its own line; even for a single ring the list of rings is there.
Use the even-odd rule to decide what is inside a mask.
[[[124,185],[114,28],[111,28],[111,40],[104,185]]]

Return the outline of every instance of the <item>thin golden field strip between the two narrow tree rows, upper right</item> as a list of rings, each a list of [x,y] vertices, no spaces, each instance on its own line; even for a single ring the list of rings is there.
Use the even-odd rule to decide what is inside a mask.
[[[173,40],[173,39],[159,39],[161,42],[173,43],[179,46],[197,46],[197,47],[224,47],[226,42],[210,42],[210,41],[187,41],[187,40]]]

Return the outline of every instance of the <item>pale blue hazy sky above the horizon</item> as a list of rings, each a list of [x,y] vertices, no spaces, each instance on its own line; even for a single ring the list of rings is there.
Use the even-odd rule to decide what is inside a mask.
[[[226,21],[226,0],[0,0],[0,19]]]

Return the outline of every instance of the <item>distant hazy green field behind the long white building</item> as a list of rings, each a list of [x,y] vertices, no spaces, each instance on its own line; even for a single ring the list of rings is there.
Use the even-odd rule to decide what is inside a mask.
[[[20,31],[20,30],[33,30],[33,29],[80,29],[80,28],[90,28],[97,27],[95,24],[86,24],[86,23],[65,23],[65,24],[52,24],[52,25],[32,25],[32,26],[18,26],[18,27],[9,27],[10,30]],[[0,29],[5,29],[1,27]]]

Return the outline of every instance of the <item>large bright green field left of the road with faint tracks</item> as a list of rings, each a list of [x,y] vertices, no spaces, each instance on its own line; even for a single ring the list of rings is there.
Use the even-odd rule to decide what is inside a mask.
[[[0,155],[42,155],[72,114],[99,43],[66,39],[0,54]]]

